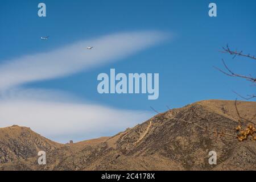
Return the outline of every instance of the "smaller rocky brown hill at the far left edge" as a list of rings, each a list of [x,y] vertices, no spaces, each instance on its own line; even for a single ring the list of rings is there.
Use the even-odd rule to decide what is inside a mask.
[[[51,151],[62,144],[35,133],[28,127],[13,125],[0,129],[0,163],[15,159],[27,159],[38,151]]]

